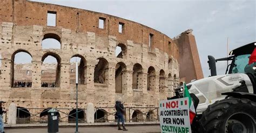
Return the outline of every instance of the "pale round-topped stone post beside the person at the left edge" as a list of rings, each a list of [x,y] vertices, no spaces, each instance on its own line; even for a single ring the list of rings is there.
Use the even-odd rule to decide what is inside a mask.
[[[8,124],[15,125],[16,124],[16,115],[17,115],[17,107],[14,103],[11,103],[8,108]]]

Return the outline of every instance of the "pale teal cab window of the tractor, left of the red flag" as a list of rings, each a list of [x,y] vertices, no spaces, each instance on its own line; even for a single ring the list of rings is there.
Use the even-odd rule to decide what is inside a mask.
[[[235,57],[232,73],[245,73],[245,66],[249,63],[250,54]]]

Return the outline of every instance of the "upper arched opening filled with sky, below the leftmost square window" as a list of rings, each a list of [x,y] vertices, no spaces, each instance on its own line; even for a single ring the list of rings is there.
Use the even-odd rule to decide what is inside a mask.
[[[42,49],[60,49],[60,37],[57,34],[48,33],[44,35]]]

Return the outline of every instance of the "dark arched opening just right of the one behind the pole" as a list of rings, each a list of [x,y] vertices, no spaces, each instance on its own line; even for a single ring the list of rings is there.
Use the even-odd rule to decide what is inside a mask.
[[[94,82],[104,84],[107,78],[107,69],[109,68],[109,63],[105,58],[98,58],[98,63],[94,70]]]

